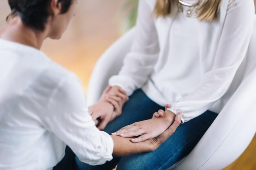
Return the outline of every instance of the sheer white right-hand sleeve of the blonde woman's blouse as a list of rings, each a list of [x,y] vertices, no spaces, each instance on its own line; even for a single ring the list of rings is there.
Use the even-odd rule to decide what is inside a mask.
[[[204,113],[227,92],[245,58],[254,15],[252,0],[230,0],[211,71],[191,93],[168,109],[175,114],[182,112],[182,123]]]

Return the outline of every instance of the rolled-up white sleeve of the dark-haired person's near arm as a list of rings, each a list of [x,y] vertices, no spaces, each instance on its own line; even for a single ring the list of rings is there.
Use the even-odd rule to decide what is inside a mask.
[[[63,78],[46,110],[45,128],[67,144],[80,161],[100,165],[112,159],[112,138],[96,128],[85,104],[83,88],[75,75]]]

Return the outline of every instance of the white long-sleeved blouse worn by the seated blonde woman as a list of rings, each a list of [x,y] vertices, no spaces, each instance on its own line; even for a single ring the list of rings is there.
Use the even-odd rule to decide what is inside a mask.
[[[237,86],[234,77],[245,58],[254,22],[253,0],[222,0],[212,22],[178,13],[155,18],[155,0],[140,0],[130,53],[111,86],[128,95],[137,88],[157,104],[171,104],[182,122],[211,110],[219,113]],[[240,81],[238,79],[238,81]],[[152,113],[157,110],[152,110]]]

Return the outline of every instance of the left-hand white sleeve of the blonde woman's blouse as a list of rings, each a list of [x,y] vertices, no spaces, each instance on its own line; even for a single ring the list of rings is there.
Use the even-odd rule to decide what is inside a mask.
[[[120,86],[128,96],[131,95],[146,83],[158,55],[159,44],[152,10],[146,0],[140,0],[131,51],[126,55],[119,74],[110,78],[110,86]]]

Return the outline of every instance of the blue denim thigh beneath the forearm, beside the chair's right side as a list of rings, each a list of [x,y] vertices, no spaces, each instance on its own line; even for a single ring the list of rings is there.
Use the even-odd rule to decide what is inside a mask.
[[[157,150],[122,157],[117,170],[146,170],[148,167],[151,170],[166,170],[189,155],[216,117],[216,113],[207,111],[185,124],[180,124]]]

